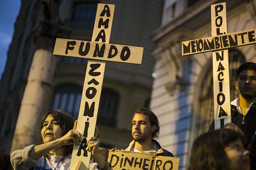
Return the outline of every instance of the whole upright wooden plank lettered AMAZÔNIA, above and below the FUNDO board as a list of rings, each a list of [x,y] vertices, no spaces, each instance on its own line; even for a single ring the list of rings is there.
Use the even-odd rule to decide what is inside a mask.
[[[105,13],[104,13],[105,11]],[[100,22],[100,14],[103,12],[104,18],[103,21],[109,19],[109,23],[112,24],[113,20],[113,12],[114,5],[109,4],[98,4],[96,19],[94,24],[95,27],[98,27],[98,23]],[[110,14],[110,15],[109,15]],[[111,32],[111,25],[108,27],[101,26],[101,29],[93,30],[92,41],[96,41],[96,37],[98,35],[102,35],[104,31],[105,34],[105,42],[109,42],[109,36]],[[103,30],[103,31],[102,31]],[[97,40],[97,42],[102,42],[102,39]],[[86,142],[87,138],[94,136],[94,130],[96,126],[97,114],[98,114],[98,106],[105,70],[105,61],[92,61],[89,60],[87,64],[81,105],[78,114],[78,122],[77,122],[77,131],[79,131],[83,136],[82,143],[80,146],[73,145],[72,159],[70,164],[70,170],[75,170],[77,165],[80,164],[80,169],[88,170],[90,163],[91,152],[87,152],[85,148],[87,147]]]

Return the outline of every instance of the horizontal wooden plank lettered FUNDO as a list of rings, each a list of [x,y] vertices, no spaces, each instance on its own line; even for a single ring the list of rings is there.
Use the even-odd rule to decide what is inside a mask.
[[[141,64],[143,48],[57,38],[53,54],[91,60]]]

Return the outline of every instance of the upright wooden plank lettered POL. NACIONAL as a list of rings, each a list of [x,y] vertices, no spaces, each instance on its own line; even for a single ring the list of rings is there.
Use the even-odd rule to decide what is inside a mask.
[[[211,5],[212,35],[227,33],[226,3]],[[231,122],[228,50],[213,52],[215,129]]]

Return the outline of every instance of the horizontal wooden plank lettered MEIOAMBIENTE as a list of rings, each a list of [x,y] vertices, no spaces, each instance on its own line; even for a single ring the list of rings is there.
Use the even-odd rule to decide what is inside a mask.
[[[255,30],[252,29],[182,42],[182,55],[186,56],[255,44]]]

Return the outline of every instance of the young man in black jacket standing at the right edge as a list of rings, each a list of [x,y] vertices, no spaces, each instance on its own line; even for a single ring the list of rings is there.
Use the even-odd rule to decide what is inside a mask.
[[[251,152],[251,169],[256,169],[256,63],[243,63],[236,71],[236,89],[239,98],[231,102],[231,123],[224,128],[233,129],[248,141]],[[214,130],[214,121],[209,130]]]

